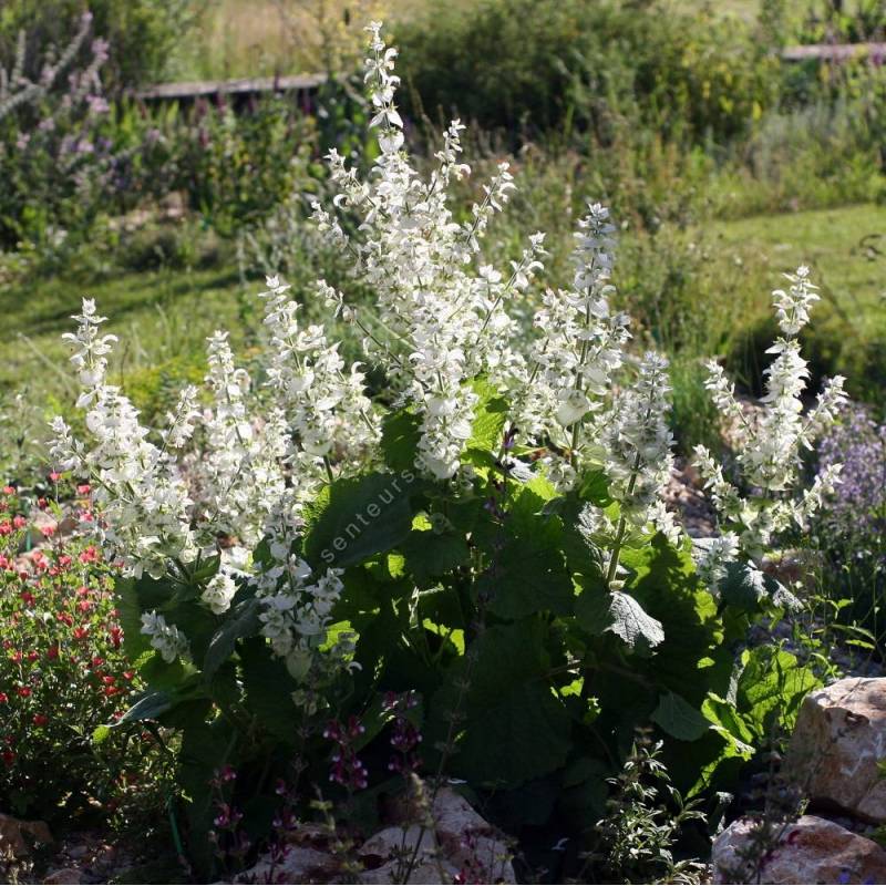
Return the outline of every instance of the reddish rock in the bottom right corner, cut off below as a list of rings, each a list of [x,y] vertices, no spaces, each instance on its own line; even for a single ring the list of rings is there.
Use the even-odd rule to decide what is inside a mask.
[[[775,827],[777,845],[765,854],[758,872],[755,861],[742,857],[753,854],[754,822],[733,822],[713,842],[713,882],[886,883],[886,849],[873,839],[814,815]]]

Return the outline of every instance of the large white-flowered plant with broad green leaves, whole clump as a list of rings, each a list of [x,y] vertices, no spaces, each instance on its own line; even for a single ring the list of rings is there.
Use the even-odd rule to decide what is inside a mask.
[[[184,390],[152,430],[109,383],[115,339],[89,299],[69,336],[86,439],[59,418],[52,454],[90,477],[96,535],[128,576],[119,607],[150,686],[123,722],[182,730],[193,834],[212,830],[214,771],[254,766],[243,783],[260,794],[288,748],[320,781],[323,734],[347,744],[333,789],[402,780],[421,734],[423,765],[515,808],[527,783],[547,785],[560,800],[544,816],[568,813],[578,830],[599,818],[638,724],[656,724],[681,787],[714,785],[752,752],[763,717],[735,691],[750,659],[732,650],[752,619],[794,601],[760,560],[837,474],[797,490],[801,452],[842,399],[835,383],[802,414],[808,274],[775,293],[784,336],[739,460],[746,488],[699,452],[721,533],[690,542],[663,498],[668,364],[630,349],[607,209],[588,206],[563,288],[536,290],[542,234],[509,269],[486,264],[484,237],[515,187],[506,164],[457,220],[463,127],[450,125],[421,177],[404,150],[396,51],[381,25],[369,31],[380,153],[361,181],[330,152],[339,196],[313,207],[354,286],[377,293],[367,307],[317,284],[362,336],[363,362],[348,365],[270,278],[257,369],[217,332],[203,391]],[[375,396],[369,369],[384,379]],[[799,666],[784,653],[779,667]],[[406,688],[408,723],[390,701]],[[379,746],[389,722],[403,754],[393,769]]]

